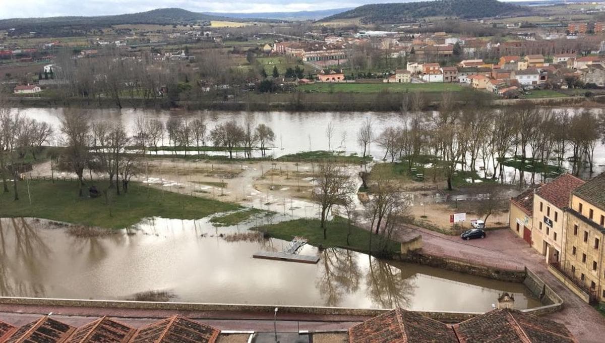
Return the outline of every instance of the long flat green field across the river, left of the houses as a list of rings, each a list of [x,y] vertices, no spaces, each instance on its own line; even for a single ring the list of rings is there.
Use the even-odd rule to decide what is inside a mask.
[[[382,90],[397,92],[442,92],[462,91],[465,88],[457,83],[312,83],[299,85],[298,90],[322,93],[379,93]]]

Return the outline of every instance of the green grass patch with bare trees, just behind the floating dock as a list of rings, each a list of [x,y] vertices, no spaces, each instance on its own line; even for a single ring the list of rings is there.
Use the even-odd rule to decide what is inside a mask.
[[[335,218],[335,220],[327,222],[326,227],[327,239],[325,240],[324,232],[318,219],[282,221],[281,223],[258,226],[253,229],[266,232],[271,237],[280,238],[281,240],[290,241],[294,237],[304,237],[313,246],[324,248],[342,247],[361,252],[368,252],[370,235],[372,235],[373,252],[383,251],[383,246],[386,247],[385,251],[389,253],[401,251],[400,243],[396,241],[385,242],[382,237],[370,234],[369,231],[357,226],[351,227],[350,244],[347,244],[348,224],[347,220],[342,218]]]

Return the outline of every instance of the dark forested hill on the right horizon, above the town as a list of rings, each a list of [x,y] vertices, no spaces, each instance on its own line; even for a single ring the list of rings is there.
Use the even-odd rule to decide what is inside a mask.
[[[521,11],[527,12],[529,10],[527,7],[497,0],[437,0],[363,5],[353,8],[353,10],[321,19],[321,21],[359,18],[362,24],[391,24],[415,21],[418,18],[432,16],[488,18],[511,15]]]

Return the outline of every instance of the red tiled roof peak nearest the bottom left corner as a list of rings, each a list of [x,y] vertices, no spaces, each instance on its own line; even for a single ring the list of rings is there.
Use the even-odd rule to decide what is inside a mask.
[[[63,343],[76,328],[44,316],[23,325],[4,343]]]

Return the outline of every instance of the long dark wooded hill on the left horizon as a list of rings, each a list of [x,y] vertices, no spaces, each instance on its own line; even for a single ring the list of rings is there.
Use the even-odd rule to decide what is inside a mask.
[[[159,8],[156,10],[114,16],[64,16],[50,18],[16,18],[0,20],[0,30],[11,30],[11,34],[36,32],[43,36],[78,35],[78,33],[122,24],[189,25],[200,22],[234,21],[234,18],[212,16],[181,8]],[[242,21],[242,19],[239,19]]]

